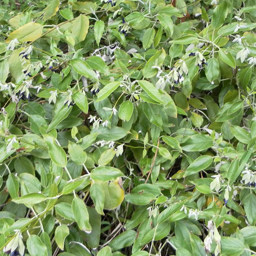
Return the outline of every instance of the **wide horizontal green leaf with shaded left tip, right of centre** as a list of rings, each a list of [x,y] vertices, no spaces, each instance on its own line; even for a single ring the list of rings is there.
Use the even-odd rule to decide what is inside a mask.
[[[204,134],[195,134],[190,136],[184,143],[181,144],[181,148],[184,151],[204,151],[213,145],[213,140],[210,136]]]

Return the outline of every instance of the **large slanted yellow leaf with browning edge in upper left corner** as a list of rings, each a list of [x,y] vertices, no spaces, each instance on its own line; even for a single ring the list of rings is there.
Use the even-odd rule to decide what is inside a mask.
[[[35,22],[29,22],[22,27],[14,30],[6,42],[10,42],[11,40],[17,38],[20,42],[29,42],[34,41],[41,37],[43,33],[43,25]]]

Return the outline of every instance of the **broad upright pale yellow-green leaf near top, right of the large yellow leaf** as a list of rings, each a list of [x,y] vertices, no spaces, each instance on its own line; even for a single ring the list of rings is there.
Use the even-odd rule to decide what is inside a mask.
[[[89,19],[85,15],[80,15],[72,21],[71,33],[75,37],[76,41],[79,43],[84,41],[89,29]],[[71,61],[72,65],[72,61]],[[77,72],[79,74],[79,72]],[[80,74],[82,75],[82,74]]]

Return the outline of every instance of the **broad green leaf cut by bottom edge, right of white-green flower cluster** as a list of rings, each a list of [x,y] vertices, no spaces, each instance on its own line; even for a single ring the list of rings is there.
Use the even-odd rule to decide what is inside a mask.
[[[241,255],[245,246],[243,241],[234,237],[221,237],[221,253],[227,255]]]

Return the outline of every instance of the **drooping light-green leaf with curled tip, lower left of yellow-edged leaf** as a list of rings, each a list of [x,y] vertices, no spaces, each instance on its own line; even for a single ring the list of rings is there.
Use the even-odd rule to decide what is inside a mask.
[[[91,224],[89,223],[89,214],[82,199],[74,197],[72,201],[72,212],[75,216],[79,229],[90,233]]]

